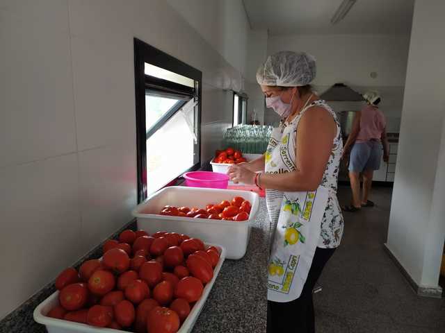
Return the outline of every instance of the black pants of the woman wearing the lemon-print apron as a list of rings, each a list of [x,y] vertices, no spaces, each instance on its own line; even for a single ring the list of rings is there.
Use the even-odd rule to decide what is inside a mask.
[[[315,316],[312,289],[335,248],[316,248],[305,287],[296,300],[286,303],[268,301],[268,333],[314,333]]]

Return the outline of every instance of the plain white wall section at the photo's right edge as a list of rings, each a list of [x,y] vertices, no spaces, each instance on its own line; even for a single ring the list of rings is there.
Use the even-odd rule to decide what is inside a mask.
[[[387,241],[414,281],[426,287],[437,287],[445,238],[444,13],[442,0],[414,6]]]

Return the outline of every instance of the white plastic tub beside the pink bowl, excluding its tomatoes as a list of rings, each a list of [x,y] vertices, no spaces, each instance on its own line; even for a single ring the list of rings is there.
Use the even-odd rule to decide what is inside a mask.
[[[187,206],[205,208],[206,205],[232,200],[242,196],[252,204],[247,221],[221,221],[210,219],[193,219],[190,217],[158,215],[162,207]],[[155,232],[181,232],[190,237],[205,239],[210,243],[220,244],[227,251],[227,259],[241,259],[247,249],[250,237],[250,225],[258,212],[259,196],[251,191],[229,189],[209,189],[200,187],[165,187],[133,210],[138,219],[138,228]]]

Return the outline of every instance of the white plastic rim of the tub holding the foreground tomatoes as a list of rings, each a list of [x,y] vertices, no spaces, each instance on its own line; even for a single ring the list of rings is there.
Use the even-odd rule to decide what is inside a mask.
[[[188,317],[186,321],[181,325],[179,328],[178,333],[188,333],[191,332],[193,329],[193,326],[195,325],[195,322],[197,320],[197,317],[200,316],[201,310],[204,307],[204,303],[207,300],[207,297],[209,297],[209,293],[211,291],[211,288],[213,287],[213,283],[216,280],[216,277],[218,276],[218,273],[220,272],[221,266],[223,266],[223,262],[225,259],[225,248],[223,246],[214,245],[214,244],[207,244],[208,246],[216,246],[218,250],[220,250],[220,261],[218,262],[218,265],[216,265],[215,269],[213,270],[213,279],[206,284],[206,287],[204,287],[204,291],[202,291],[201,298],[195,303],[195,306],[191,310],[190,314],[188,314]],[[53,307],[58,305],[58,291],[53,293],[49,298],[44,300],[43,302],[38,305],[38,307],[34,310],[34,320],[42,325],[45,325],[47,327],[48,333],[75,333],[75,332],[86,332],[86,333],[115,333],[115,332],[128,332],[128,331],[122,331],[122,330],[113,330],[112,328],[100,328],[100,327],[94,327],[82,323],[74,323],[72,321],[63,321],[61,319],[51,318],[47,317],[46,314],[51,310]]]

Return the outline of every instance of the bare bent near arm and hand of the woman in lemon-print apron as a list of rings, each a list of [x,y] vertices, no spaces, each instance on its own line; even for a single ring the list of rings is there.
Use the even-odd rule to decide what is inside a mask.
[[[297,170],[289,173],[261,173],[259,185],[280,191],[313,191],[320,185],[337,134],[332,116],[324,108],[310,108],[300,119],[297,131]],[[254,184],[255,174],[243,166],[229,169],[236,182]]]

